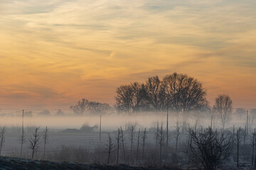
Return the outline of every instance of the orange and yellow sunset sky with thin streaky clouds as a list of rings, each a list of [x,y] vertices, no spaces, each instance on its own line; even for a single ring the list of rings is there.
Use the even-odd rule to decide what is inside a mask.
[[[1,0],[0,108],[114,103],[173,72],[256,108],[255,0]]]

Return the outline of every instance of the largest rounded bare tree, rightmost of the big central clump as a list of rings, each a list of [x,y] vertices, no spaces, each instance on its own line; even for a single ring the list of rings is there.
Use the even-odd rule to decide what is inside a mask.
[[[166,75],[163,84],[169,105],[183,115],[182,131],[184,131],[188,113],[208,107],[206,89],[197,79],[178,73]]]

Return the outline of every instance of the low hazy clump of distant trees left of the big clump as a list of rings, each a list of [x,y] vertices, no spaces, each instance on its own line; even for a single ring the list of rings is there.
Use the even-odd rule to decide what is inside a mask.
[[[70,109],[76,115],[112,112],[112,107],[109,104],[88,101],[85,98],[82,98],[82,101],[78,101],[78,103],[76,103],[75,106],[70,106]]]

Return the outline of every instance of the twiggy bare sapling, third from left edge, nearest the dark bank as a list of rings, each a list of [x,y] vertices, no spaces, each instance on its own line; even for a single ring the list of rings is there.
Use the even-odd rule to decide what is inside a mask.
[[[40,145],[40,138],[41,138],[41,135],[39,132],[39,127],[37,127],[35,129],[35,132],[33,132],[32,137],[28,140],[28,142],[29,142],[28,148],[31,149],[32,159],[34,157],[34,154],[36,154],[36,152],[38,152],[39,145]]]

